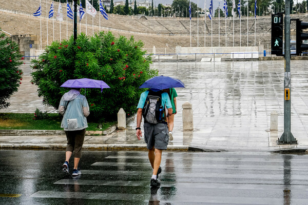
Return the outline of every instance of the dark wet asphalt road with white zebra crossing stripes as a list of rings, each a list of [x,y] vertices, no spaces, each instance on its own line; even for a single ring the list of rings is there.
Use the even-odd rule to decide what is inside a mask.
[[[146,151],[84,151],[79,177],[62,174],[64,151],[0,150],[0,156],[0,204],[6,205],[300,205],[308,200],[308,155],[164,151],[161,186],[155,189],[149,186]]]

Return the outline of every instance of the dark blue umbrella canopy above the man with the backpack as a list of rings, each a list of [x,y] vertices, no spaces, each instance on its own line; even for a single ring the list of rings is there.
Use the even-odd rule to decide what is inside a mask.
[[[185,88],[185,85],[179,79],[161,75],[148,79],[139,88],[155,88],[163,90],[167,88]]]

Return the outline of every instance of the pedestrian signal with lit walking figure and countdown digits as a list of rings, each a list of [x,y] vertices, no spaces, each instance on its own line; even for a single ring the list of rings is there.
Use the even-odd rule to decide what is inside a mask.
[[[282,56],[283,43],[283,14],[272,14],[272,54]]]

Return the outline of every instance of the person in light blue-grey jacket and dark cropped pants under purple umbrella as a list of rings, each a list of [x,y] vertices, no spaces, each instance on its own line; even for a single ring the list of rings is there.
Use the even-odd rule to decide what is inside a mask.
[[[62,172],[69,173],[69,159],[74,152],[74,169],[72,176],[81,175],[78,164],[81,158],[81,150],[88,127],[89,105],[86,97],[80,94],[81,88],[71,88],[60,101],[59,113],[63,115],[61,128],[64,129],[67,138],[65,162]]]

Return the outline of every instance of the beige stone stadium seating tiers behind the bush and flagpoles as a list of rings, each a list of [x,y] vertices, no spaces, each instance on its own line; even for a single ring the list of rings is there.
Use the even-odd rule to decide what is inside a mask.
[[[40,20],[42,20],[42,48],[47,44],[51,44],[54,40],[65,39],[73,33],[73,21],[66,20],[66,4],[62,4],[62,12],[64,20],[59,23],[55,20],[58,2],[54,2],[54,16],[48,18],[48,12],[51,6],[51,1],[42,1],[42,15],[33,16],[33,13],[40,6],[39,0],[20,0],[20,1],[0,1],[0,28],[10,35],[37,35],[40,41]],[[73,9],[73,8],[72,8]],[[136,40],[142,40],[145,48],[153,46],[157,48],[182,47],[190,46],[190,20],[189,18],[159,18],[140,16],[123,16],[108,14],[109,19],[106,20],[99,12],[92,18],[87,15],[81,20],[78,20],[78,33],[84,32],[87,35],[92,35],[94,32],[111,31],[115,36],[124,35],[134,36]],[[42,18],[42,19],[40,19]],[[291,15],[291,18],[300,18],[308,20],[306,14]],[[93,19],[93,22],[92,22]],[[234,22],[234,26],[233,26]],[[47,24],[48,24],[48,43],[47,43]],[[60,36],[61,24],[61,36]],[[92,26],[94,25],[94,26]],[[233,21],[232,17],[228,17],[226,22],[224,17],[213,18],[213,22],[206,18],[206,27],[204,26],[204,17],[191,19],[191,46],[204,46],[204,33],[206,47],[211,46],[213,25],[213,46],[225,46],[225,35],[227,35],[227,46],[247,46],[247,17],[241,19],[236,17]],[[220,25],[220,26],[219,26]],[[241,25],[241,30],[240,30]],[[100,27],[101,26],[101,27]],[[234,27],[234,36],[233,36]],[[68,29],[67,29],[68,28]],[[199,28],[199,29],[198,29]],[[291,27],[292,28],[292,27]],[[53,35],[54,33],[54,35]],[[198,38],[199,33],[199,38]],[[256,45],[263,44],[266,47],[271,43],[271,16],[257,16],[256,20]],[[248,46],[255,45],[255,18],[248,17]]]

